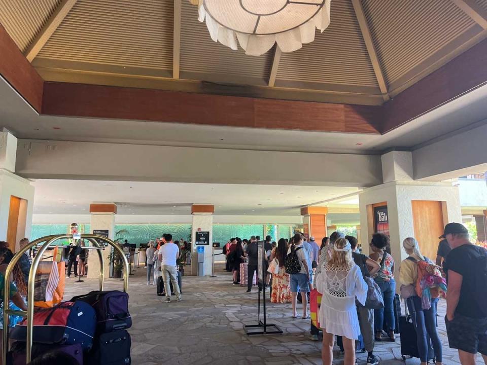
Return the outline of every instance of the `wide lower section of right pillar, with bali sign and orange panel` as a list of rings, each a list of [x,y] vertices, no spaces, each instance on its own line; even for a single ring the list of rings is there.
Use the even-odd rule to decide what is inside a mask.
[[[362,191],[359,205],[364,253],[370,253],[372,234],[388,229],[396,272],[407,257],[402,247],[406,237],[416,238],[423,254],[434,261],[444,225],[462,222],[459,189],[451,182],[387,182]]]

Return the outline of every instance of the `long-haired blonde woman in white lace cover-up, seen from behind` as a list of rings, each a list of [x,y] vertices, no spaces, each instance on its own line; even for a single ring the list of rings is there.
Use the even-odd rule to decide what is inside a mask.
[[[344,238],[335,241],[331,259],[316,278],[316,286],[323,294],[318,320],[323,329],[322,360],[333,361],[335,335],[343,337],[344,365],[355,363],[355,340],[360,335],[355,297],[362,304],[367,298],[367,284],[360,268],[352,258],[350,242]]]

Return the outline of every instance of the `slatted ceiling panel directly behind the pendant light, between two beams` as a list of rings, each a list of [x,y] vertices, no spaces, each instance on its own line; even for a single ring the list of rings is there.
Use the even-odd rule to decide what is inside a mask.
[[[221,74],[254,78],[248,79],[249,84],[267,82],[272,52],[259,57],[248,56],[240,48],[233,51],[213,42],[206,24],[198,21],[198,7],[187,0],[183,0],[181,16],[182,72],[198,72],[201,74],[198,80],[211,79],[205,74]]]

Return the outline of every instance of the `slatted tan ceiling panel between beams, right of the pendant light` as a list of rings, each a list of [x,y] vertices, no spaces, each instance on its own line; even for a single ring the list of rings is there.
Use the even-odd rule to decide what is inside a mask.
[[[331,24],[314,42],[283,53],[277,79],[377,86],[350,0],[331,2]]]

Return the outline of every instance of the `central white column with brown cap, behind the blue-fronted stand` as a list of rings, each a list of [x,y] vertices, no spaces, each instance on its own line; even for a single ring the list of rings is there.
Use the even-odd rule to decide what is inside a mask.
[[[198,274],[197,247],[204,247],[204,275],[212,274],[213,262],[213,213],[215,207],[207,204],[193,204],[191,214],[193,215],[193,224],[191,226],[191,248],[193,257],[191,260],[191,274]],[[197,246],[195,244],[196,232],[210,232],[209,244]]]

